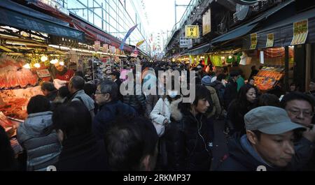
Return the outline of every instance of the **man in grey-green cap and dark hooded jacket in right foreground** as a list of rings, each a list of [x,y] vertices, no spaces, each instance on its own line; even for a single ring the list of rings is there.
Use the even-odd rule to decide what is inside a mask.
[[[233,135],[229,156],[218,170],[288,170],[295,155],[296,133],[304,126],[293,123],[286,110],[272,106],[255,108],[244,116],[246,134]]]

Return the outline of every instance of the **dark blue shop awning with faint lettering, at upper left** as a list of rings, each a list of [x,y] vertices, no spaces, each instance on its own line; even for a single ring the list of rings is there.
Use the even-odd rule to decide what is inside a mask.
[[[69,23],[13,1],[0,1],[0,17],[0,24],[10,27],[40,31],[45,34],[73,38],[80,41],[84,40],[83,31],[70,28]]]

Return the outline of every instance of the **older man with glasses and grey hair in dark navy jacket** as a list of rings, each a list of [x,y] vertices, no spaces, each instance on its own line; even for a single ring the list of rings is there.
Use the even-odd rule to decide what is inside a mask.
[[[97,86],[95,101],[99,105],[99,112],[94,117],[92,129],[97,139],[103,139],[111,122],[118,117],[127,121],[137,115],[134,108],[118,100],[118,86],[115,82],[104,81]]]

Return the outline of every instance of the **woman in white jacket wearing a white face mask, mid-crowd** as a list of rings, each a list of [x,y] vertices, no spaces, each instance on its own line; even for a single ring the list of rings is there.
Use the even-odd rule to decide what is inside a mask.
[[[164,134],[165,126],[171,123],[170,104],[179,97],[180,96],[177,91],[169,91],[167,96],[163,96],[158,100],[152,112],[150,113],[151,120],[159,137]]]

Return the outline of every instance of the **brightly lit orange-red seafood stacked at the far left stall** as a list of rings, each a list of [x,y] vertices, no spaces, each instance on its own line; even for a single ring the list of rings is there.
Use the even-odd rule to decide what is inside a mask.
[[[26,61],[25,58],[0,58],[0,111],[15,119],[26,119],[29,98],[42,94],[41,87],[34,87],[38,84],[38,75],[23,68]]]

